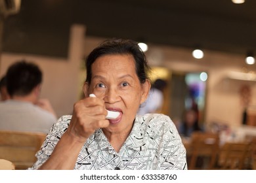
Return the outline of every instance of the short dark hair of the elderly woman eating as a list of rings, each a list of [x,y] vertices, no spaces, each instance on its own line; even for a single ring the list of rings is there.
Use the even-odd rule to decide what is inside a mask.
[[[144,52],[140,49],[138,42],[125,39],[110,39],[102,42],[87,57],[85,67],[87,69],[86,82],[91,83],[91,66],[97,58],[110,54],[131,54],[135,59],[136,73],[140,83],[148,79],[147,72],[150,70]]]

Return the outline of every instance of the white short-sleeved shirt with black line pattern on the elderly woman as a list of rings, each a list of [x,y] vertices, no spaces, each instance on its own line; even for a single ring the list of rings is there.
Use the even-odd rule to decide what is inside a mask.
[[[62,116],[53,125],[36,154],[37,161],[30,169],[38,169],[51,156],[71,118]],[[145,114],[135,118],[133,129],[119,152],[108,142],[102,129],[97,129],[81,148],[74,169],[187,169],[186,150],[169,116]]]

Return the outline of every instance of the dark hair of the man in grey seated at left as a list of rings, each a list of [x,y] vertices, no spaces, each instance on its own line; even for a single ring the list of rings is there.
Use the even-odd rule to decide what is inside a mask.
[[[35,63],[25,60],[12,64],[7,70],[7,92],[9,95],[28,95],[42,82],[42,72]]]

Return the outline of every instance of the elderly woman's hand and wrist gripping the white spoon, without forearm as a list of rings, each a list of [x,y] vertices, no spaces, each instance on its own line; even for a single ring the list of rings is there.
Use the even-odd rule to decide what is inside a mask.
[[[70,126],[66,133],[84,142],[96,129],[108,127],[107,110],[102,99],[87,97],[74,105]]]

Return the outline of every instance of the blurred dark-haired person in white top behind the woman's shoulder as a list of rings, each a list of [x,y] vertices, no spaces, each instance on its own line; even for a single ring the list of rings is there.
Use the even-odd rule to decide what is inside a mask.
[[[163,107],[163,90],[167,87],[167,82],[160,78],[156,79],[152,88],[148,94],[148,98],[137,112],[139,115],[144,115],[147,113],[160,113]]]

